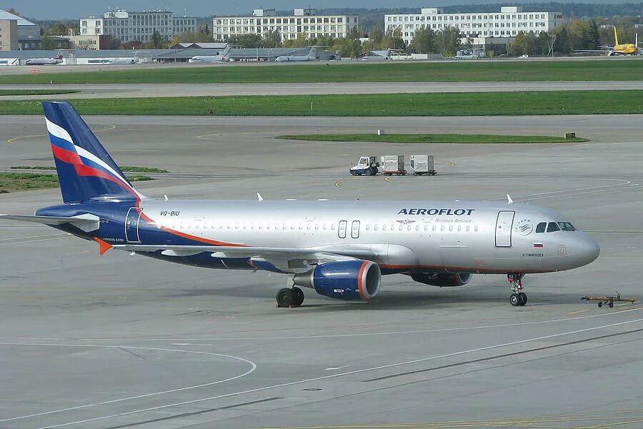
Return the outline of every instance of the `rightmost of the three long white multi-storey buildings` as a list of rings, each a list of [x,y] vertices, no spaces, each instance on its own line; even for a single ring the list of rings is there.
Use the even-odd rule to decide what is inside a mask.
[[[472,39],[473,44],[484,46],[487,39],[513,39],[518,31],[549,32],[562,21],[560,12],[523,12],[519,6],[503,6],[500,12],[468,14],[444,14],[442,9],[425,8],[419,14],[384,15],[384,28],[399,29],[402,39],[410,44],[415,31],[422,27],[440,31],[450,26],[459,29],[463,41]]]

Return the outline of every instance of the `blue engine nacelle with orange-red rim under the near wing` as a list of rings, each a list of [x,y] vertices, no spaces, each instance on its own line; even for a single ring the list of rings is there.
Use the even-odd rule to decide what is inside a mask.
[[[296,274],[293,281],[296,286],[312,288],[329,298],[367,301],[379,292],[382,271],[372,261],[337,261]]]

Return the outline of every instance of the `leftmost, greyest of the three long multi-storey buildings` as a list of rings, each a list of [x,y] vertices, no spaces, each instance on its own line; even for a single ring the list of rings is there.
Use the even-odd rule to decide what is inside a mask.
[[[149,41],[154,31],[172,39],[196,31],[196,18],[172,16],[171,11],[109,11],[99,18],[80,19],[81,36],[112,36],[121,41]]]

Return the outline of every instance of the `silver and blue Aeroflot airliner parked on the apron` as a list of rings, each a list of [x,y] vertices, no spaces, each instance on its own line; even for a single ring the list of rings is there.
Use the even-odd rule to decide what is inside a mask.
[[[474,273],[505,274],[524,306],[526,273],[587,265],[599,246],[555,211],[479,201],[182,201],[146,198],[69,103],[43,103],[64,204],[35,216],[110,248],[204,268],[291,276],[280,307],[323,296],[369,300],[384,274],[463,286]],[[299,287],[298,287],[299,286]]]

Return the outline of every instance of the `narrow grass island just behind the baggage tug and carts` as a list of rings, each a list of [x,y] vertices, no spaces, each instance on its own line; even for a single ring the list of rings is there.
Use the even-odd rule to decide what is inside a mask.
[[[279,136],[286,140],[374,141],[378,143],[579,143],[587,138],[551,136],[504,136],[494,134],[299,134]]]

